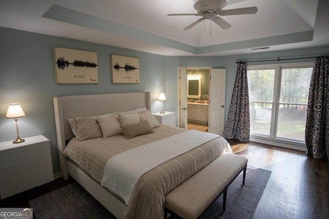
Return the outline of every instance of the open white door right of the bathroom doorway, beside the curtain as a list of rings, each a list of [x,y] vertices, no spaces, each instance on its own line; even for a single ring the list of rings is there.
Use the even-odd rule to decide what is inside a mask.
[[[225,125],[225,89],[226,69],[211,69],[208,131],[218,135],[223,135]]]

